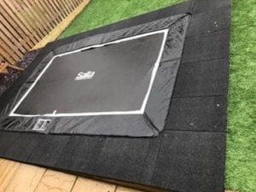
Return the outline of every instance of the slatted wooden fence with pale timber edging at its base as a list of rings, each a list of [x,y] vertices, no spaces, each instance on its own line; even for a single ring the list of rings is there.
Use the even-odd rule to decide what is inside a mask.
[[[15,65],[27,51],[54,40],[89,1],[0,0],[0,63]]]

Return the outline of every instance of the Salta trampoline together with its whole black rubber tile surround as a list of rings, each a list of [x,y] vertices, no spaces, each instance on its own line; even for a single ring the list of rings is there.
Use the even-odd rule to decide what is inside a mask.
[[[41,49],[1,96],[0,156],[155,191],[224,191],[230,0]]]

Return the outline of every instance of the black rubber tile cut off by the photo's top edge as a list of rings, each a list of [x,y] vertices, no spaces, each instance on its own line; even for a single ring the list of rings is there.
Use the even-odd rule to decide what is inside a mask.
[[[195,7],[193,9],[193,15],[202,13],[202,12],[207,12],[212,9],[228,7],[231,5],[230,0],[194,0],[194,1],[195,1]]]

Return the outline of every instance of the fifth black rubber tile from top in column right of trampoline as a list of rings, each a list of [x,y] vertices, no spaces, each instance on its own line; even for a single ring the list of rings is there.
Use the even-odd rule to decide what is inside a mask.
[[[166,130],[225,131],[225,96],[175,98]]]

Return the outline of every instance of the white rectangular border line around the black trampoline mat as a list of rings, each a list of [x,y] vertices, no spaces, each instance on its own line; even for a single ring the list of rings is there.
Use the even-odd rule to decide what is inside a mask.
[[[147,32],[147,33],[143,33],[143,34],[133,36],[133,37],[130,37],[130,38],[121,38],[119,40],[108,42],[106,44],[91,45],[89,47],[76,49],[76,50],[73,50],[73,51],[70,51],[70,52],[55,55],[53,58],[51,58],[49,63],[46,65],[46,67],[44,67],[44,70],[38,75],[38,78],[34,81],[34,83],[30,86],[30,88],[28,90],[26,90],[26,93],[20,98],[20,101],[16,103],[15,108],[13,108],[11,110],[11,112],[9,113],[9,116],[13,116],[13,117],[69,117],[69,116],[92,116],[92,115],[143,114],[144,110],[146,108],[147,102],[148,102],[148,97],[149,97],[150,91],[152,89],[152,85],[154,83],[155,75],[156,75],[158,67],[160,65],[160,59],[161,59],[161,56],[162,56],[164,48],[165,48],[166,38],[167,38],[168,32],[169,32],[169,29],[164,29],[164,30],[155,31],[155,32]],[[108,44],[118,44],[120,42],[129,41],[129,40],[132,40],[132,39],[135,39],[135,38],[143,38],[143,37],[147,37],[149,35],[154,35],[154,34],[158,34],[158,33],[164,33],[164,38],[163,38],[163,41],[162,41],[162,44],[161,44],[161,47],[160,47],[160,52],[159,52],[157,61],[155,61],[155,63],[154,63],[154,68],[152,70],[151,79],[150,79],[150,82],[149,82],[149,85],[148,85],[148,91],[146,93],[146,96],[144,97],[142,107],[139,110],[113,111],[113,112],[91,112],[91,113],[90,112],[89,113],[55,113],[54,112],[54,113],[45,113],[45,114],[17,114],[17,113],[15,113],[15,110],[17,108],[19,108],[21,102],[23,102],[25,100],[26,96],[30,93],[32,88],[38,83],[38,80],[43,76],[43,74],[46,72],[46,70],[48,69],[50,64],[55,60],[56,57],[77,53],[79,51],[83,51],[83,50],[86,50],[86,49],[104,47]]]

